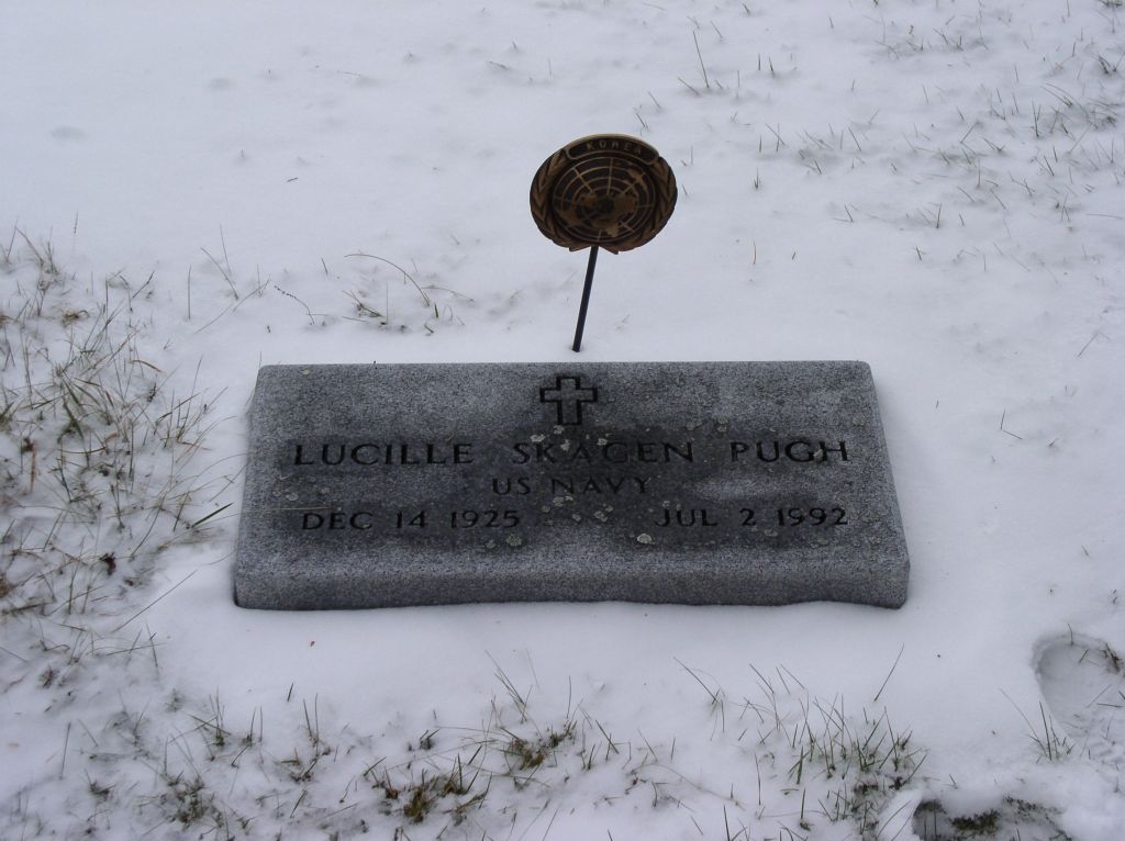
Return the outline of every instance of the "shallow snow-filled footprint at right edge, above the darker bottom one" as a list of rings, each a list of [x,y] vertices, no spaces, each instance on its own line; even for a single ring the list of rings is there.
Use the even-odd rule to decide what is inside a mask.
[[[1078,634],[1048,640],[1035,660],[1040,689],[1076,751],[1125,768],[1125,660]]]

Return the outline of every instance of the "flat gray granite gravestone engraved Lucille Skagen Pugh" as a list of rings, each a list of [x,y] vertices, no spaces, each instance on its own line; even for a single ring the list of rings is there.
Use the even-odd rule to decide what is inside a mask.
[[[900,606],[862,362],[261,369],[235,600]]]

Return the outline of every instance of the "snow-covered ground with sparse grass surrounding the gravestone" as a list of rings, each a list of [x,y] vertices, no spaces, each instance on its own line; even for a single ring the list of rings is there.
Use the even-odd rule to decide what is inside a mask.
[[[1122,838],[1119,0],[2,20],[0,835]],[[258,367],[569,359],[597,132],[583,358],[870,362],[907,605],[236,608]]]

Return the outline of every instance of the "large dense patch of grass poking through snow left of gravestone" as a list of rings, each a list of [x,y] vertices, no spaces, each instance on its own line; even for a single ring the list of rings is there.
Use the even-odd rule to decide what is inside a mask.
[[[38,662],[22,678],[52,689],[91,654],[137,649],[140,635],[104,644],[115,614],[172,545],[202,536],[192,460],[212,400],[176,394],[141,350],[132,301],[152,278],[115,274],[96,295],[18,233],[0,302],[0,623],[6,648]]]

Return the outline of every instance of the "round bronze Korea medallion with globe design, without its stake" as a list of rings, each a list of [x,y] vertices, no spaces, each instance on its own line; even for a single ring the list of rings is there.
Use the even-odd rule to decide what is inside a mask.
[[[675,207],[672,168],[628,135],[574,141],[543,161],[531,181],[536,225],[570,251],[636,248],[660,233]]]

